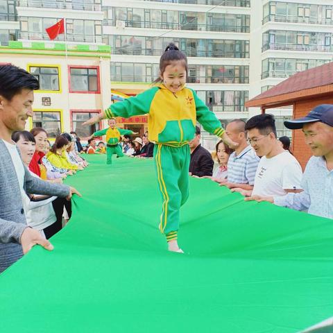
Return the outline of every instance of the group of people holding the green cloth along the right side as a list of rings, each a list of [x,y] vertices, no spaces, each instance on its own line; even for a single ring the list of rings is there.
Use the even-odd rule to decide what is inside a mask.
[[[259,114],[246,122],[228,123],[225,131],[238,144],[234,150],[220,141],[210,154],[200,146],[197,127],[189,142],[189,175],[210,178],[245,200],[268,201],[333,219],[333,105],[318,105],[307,117],[284,124],[302,129],[314,154],[304,173],[291,152],[289,137],[278,139],[274,117]]]

